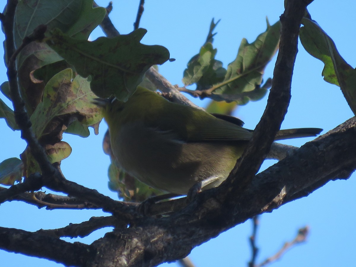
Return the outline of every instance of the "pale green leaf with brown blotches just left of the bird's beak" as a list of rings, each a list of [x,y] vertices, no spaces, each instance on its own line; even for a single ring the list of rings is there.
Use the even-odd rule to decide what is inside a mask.
[[[31,116],[33,131],[37,138],[54,133],[61,135],[74,120],[82,125],[96,124],[102,119],[100,109],[92,103],[95,95],[87,79],[77,75],[72,81],[72,69],[54,75],[47,83],[41,102]],[[71,133],[83,135],[82,129]],[[54,143],[54,142],[50,142]]]

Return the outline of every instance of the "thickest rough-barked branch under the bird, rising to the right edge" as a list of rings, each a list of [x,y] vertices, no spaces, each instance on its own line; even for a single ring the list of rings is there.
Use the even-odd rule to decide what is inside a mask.
[[[143,218],[127,229],[95,241],[99,258],[89,266],[126,262],[155,266],[187,256],[190,250],[237,224],[307,195],[326,182],[356,169],[356,117],[309,142],[293,155],[257,174],[237,192],[235,206],[216,201],[209,189],[181,212],[161,219]],[[182,200],[180,200],[182,201]],[[155,205],[153,205],[155,206]],[[224,218],[224,219],[222,219]],[[125,240],[135,240],[130,245]]]

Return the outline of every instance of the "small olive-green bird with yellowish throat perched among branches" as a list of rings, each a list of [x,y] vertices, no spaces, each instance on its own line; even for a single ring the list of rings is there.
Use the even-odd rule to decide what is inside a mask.
[[[95,103],[103,108],[117,166],[167,193],[186,195],[198,182],[203,189],[221,184],[252,136],[237,118],[175,104],[142,87],[127,102]],[[321,130],[282,130],[276,140]]]

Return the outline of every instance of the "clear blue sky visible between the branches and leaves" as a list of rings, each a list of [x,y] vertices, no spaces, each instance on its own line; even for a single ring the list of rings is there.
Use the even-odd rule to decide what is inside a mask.
[[[113,1],[114,10],[110,17],[120,31],[133,30],[138,1]],[[98,1],[106,6],[108,1]],[[333,38],[336,47],[344,59],[356,66],[354,11],[356,2],[352,0],[314,1],[308,8],[328,35]],[[140,26],[148,30],[142,43],[163,45],[168,48],[174,62],[159,67],[160,72],[172,84],[182,85],[183,70],[189,59],[199,51],[208,33],[211,19],[221,19],[216,27],[214,47],[218,48],[216,59],[224,67],[236,57],[242,38],[249,42],[266,29],[266,16],[273,24],[283,12],[283,1],[146,1]],[[94,30],[91,39],[103,35],[100,29]],[[4,36],[0,33],[0,39]],[[2,47],[0,48],[2,49]],[[2,51],[1,51],[2,53]],[[275,58],[274,58],[275,61]],[[333,129],[353,116],[340,89],[324,82],[321,77],[323,63],[311,57],[299,44],[299,53],[295,63],[292,81],[292,100],[282,128],[320,127],[323,133]],[[265,73],[272,77],[274,62]],[[4,63],[0,62],[0,83],[7,80]],[[0,95],[4,101],[5,97]],[[204,106],[206,101],[194,100]],[[245,127],[253,129],[258,123],[266,106],[267,97],[261,101],[242,106],[236,116],[245,121]],[[7,104],[10,103],[7,101]],[[19,157],[26,145],[20,139],[19,132],[12,132],[0,119],[1,152],[0,162],[6,158]],[[63,141],[72,148],[72,155],[62,162],[62,171],[69,180],[117,199],[107,187],[107,169],[109,158],[101,149],[106,125],[100,125],[99,135],[91,131],[88,138],[65,135]],[[288,140],[285,143],[300,146],[311,140],[302,138]],[[266,161],[262,168],[273,164]],[[356,175],[349,180],[330,182],[306,198],[283,205],[272,213],[263,214],[258,228],[257,246],[260,248],[257,262],[276,253],[284,242],[294,238],[297,230],[310,226],[308,242],[288,251],[272,266],[354,266],[351,255],[356,245],[354,227],[356,210]],[[45,188],[43,190],[46,190]],[[48,190],[46,190],[49,192]],[[37,209],[24,203],[6,202],[0,206],[1,226],[20,228],[27,231],[52,229],[80,223],[91,216],[102,216],[101,211],[76,211]],[[226,231],[201,246],[194,248],[190,257],[196,266],[247,266],[251,252],[248,236],[251,233],[251,221]],[[109,229],[110,230],[110,229]],[[66,239],[90,243],[103,236],[108,229],[96,231],[89,237]],[[47,260],[27,257],[15,253],[0,251],[4,266],[62,266]],[[168,266],[164,264],[163,266]],[[176,266],[172,263],[171,266]]]

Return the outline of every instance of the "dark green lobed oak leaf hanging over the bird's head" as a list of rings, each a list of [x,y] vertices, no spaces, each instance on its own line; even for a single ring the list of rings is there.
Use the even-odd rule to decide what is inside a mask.
[[[139,28],[128,35],[78,41],[53,30],[47,44],[72,64],[82,77],[91,75],[90,87],[101,98],[114,94],[126,101],[142,82],[145,72],[169,59],[163,46],[142,45],[147,31]]]

